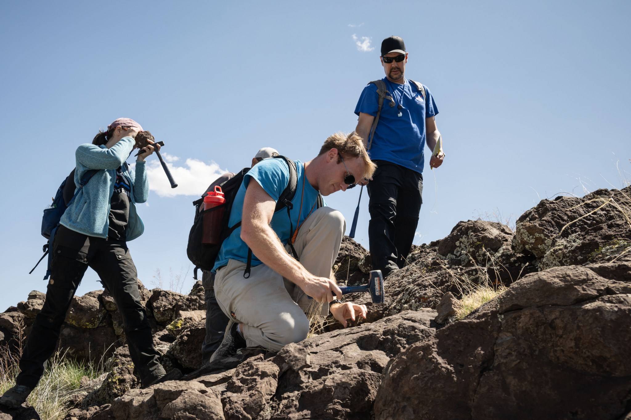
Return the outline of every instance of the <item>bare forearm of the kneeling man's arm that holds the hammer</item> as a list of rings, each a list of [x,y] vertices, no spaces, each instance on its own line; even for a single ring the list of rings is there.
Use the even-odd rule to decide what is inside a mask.
[[[309,271],[287,254],[276,232],[268,224],[252,220],[252,226],[242,231],[241,239],[256,258],[292,283],[300,286],[301,280],[309,276]]]

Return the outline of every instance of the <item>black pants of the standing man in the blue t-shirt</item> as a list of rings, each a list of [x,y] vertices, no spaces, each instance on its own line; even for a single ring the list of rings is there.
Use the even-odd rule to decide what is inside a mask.
[[[377,170],[368,184],[368,237],[372,269],[384,277],[402,268],[410,254],[423,203],[423,175],[387,161],[374,161]]]

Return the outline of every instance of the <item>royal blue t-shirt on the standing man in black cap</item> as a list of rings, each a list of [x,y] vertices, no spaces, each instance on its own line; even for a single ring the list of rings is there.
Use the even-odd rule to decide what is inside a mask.
[[[370,159],[382,159],[422,173],[425,164],[425,118],[438,113],[430,89],[423,85],[427,96],[425,101],[416,86],[407,79],[404,84],[392,83],[387,77],[382,80],[386,82],[386,87],[394,99],[394,106],[390,106],[390,101],[384,99],[372,147],[369,150]],[[403,106],[401,116],[398,116],[398,105]],[[355,113],[359,115],[363,112],[376,116],[378,108],[377,86],[370,83],[363,88]]]

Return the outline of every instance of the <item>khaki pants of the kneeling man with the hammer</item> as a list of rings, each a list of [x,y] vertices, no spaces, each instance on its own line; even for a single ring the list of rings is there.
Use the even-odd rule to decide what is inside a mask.
[[[330,207],[315,210],[300,227],[293,244],[300,264],[315,276],[329,278],[346,230],[342,213]],[[231,259],[215,276],[215,295],[221,310],[244,324],[248,347],[275,351],[307,338],[309,320],[305,312],[313,299],[302,289],[265,264],[252,267],[244,278],[245,263]],[[326,315],[329,305],[322,305]]]

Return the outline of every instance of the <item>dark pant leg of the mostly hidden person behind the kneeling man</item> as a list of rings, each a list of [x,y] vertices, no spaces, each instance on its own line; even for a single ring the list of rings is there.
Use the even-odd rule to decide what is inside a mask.
[[[206,365],[215,350],[223,341],[223,333],[226,331],[230,319],[223,313],[215,297],[215,275],[210,271],[204,271],[201,276],[204,286],[204,301],[206,302],[206,337],[201,343],[201,363]]]

